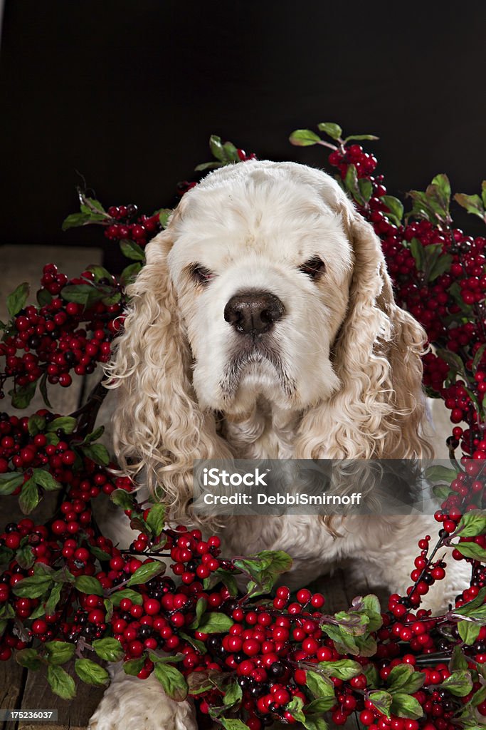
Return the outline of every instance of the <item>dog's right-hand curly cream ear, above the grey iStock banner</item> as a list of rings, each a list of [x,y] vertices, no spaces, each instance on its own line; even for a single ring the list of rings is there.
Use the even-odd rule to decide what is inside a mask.
[[[304,415],[297,458],[426,458],[422,362],[426,334],[393,300],[380,242],[341,191],[334,206],[353,245],[348,313],[332,358],[341,387]],[[329,197],[329,196],[328,196]]]

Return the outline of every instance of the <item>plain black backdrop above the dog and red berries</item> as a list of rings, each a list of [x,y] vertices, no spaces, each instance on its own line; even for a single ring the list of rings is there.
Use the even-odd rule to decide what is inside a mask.
[[[149,213],[211,158],[211,133],[326,166],[288,142],[320,121],[380,137],[389,193],[437,172],[477,192],[485,29],[480,3],[7,0],[0,242],[100,245],[98,229],[60,230],[76,171],[104,204]]]

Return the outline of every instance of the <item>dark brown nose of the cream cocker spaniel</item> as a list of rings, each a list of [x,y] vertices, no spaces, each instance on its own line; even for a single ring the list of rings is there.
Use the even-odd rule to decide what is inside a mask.
[[[252,291],[232,296],[224,307],[224,319],[237,332],[262,334],[269,331],[284,312],[285,307],[275,294]]]

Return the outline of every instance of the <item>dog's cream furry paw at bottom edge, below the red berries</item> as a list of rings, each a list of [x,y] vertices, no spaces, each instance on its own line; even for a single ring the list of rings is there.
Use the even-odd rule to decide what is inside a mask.
[[[135,680],[135,681],[133,681]],[[137,677],[115,681],[106,690],[87,730],[196,730],[190,702],[175,702],[159,683]]]

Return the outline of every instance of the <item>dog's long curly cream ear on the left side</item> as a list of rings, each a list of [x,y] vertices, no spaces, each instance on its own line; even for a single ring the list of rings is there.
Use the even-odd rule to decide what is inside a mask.
[[[172,229],[149,243],[146,265],[127,288],[130,307],[106,373],[107,387],[119,391],[114,413],[119,465],[133,477],[146,469],[149,489],[177,519],[187,517],[192,499],[193,461],[231,454],[192,390],[192,354],[167,266]]]

